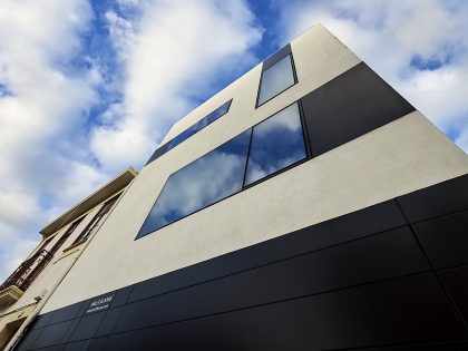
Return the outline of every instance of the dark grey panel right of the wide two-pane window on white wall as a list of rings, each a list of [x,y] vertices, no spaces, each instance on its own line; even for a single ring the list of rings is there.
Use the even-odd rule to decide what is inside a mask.
[[[363,62],[303,97],[302,106],[313,156],[415,110]]]

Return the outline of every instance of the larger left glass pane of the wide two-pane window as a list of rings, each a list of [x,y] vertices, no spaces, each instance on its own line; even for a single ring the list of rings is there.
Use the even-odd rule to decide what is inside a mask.
[[[137,237],[241,191],[250,135],[251,129],[172,174]]]

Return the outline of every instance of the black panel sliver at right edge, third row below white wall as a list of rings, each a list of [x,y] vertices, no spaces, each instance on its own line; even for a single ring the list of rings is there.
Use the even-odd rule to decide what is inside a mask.
[[[468,266],[439,273],[465,322],[468,323]]]

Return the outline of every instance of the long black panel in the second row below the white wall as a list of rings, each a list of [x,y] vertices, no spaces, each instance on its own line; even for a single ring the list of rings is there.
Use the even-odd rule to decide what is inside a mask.
[[[398,228],[128,304],[115,332],[295,299],[429,269],[411,232]]]

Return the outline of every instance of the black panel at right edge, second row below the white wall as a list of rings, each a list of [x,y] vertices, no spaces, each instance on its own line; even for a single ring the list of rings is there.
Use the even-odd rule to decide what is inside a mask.
[[[436,270],[468,264],[468,211],[420,222],[413,228]]]

